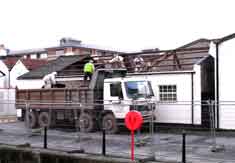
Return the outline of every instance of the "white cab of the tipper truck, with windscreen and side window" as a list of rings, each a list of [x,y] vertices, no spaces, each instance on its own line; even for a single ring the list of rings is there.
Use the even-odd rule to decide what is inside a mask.
[[[144,119],[151,115],[153,108],[149,104],[154,95],[149,81],[128,77],[109,78],[104,80],[103,91],[104,110],[112,111],[119,122],[130,110],[139,111]]]

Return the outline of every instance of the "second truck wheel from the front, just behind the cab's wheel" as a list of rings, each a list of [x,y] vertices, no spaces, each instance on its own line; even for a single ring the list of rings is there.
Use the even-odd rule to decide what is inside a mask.
[[[82,132],[91,132],[94,129],[94,121],[90,114],[82,113],[79,117],[79,127]]]

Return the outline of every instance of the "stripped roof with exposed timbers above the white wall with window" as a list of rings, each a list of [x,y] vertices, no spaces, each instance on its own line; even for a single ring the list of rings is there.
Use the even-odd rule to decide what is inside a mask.
[[[133,59],[136,55],[142,56],[145,61],[143,71],[185,71],[193,70],[195,64],[210,56],[209,39],[198,39],[173,50],[159,50],[156,52],[129,53],[127,67],[129,72],[133,72]]]

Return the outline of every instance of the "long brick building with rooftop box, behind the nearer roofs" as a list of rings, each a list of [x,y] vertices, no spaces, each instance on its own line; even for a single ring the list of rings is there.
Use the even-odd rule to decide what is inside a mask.
[[[10,51],[9,56],[17,56],[21,58],[30,59],[47,59],[54,60],[59,56],[69,55],[89,55],[93,57],[109,56],[114,54],[121,54],[119,51],[109,50],[107,48],[98,47],[95,45],[83,44],[82,41],[72,38],[62,38],[58,46],[26,49]]]

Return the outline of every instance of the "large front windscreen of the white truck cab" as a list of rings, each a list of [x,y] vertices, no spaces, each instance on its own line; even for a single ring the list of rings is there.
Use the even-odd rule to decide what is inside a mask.
[[[149,81],[128,81],[125,82],[125,88],[129,98],[150,98],[153,96]]]

